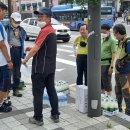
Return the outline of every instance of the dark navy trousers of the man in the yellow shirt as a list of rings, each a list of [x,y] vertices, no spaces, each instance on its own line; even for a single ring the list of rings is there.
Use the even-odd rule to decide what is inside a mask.
[[[83,85],[83,75],[87,86],[87,55],[77,55],[77,85]]]

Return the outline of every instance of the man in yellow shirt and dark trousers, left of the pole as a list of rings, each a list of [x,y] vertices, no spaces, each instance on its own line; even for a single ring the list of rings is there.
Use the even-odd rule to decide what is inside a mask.
[[[83,75],[87,86],[87,54],[88,54],[88,31],[87,25],[80,26],[80,36],[74,41],[74,53],[77,63],[77,85],[83,85]]]

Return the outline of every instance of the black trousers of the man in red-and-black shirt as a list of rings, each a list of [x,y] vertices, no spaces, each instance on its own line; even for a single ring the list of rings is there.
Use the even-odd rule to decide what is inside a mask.
[[[51,115],[59,115],[58,111],[58,97],[54,87],[55,74],[33,74],[32,78],[32,92],[34,104],[34,117],[37,120],[43,118],[43,92],[46,87],[51,105]]]

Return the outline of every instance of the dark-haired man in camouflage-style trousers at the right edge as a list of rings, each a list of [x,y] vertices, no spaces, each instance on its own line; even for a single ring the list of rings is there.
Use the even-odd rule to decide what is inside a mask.
[[[122,94],[126,104],[125,113],[130,116],[130,37],[127,36],[126,28],[122,24],[116,24],[113,27],[113,33],[118,40],[115,56],[118,107],[122,111]]]

